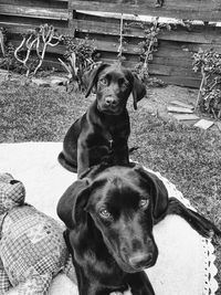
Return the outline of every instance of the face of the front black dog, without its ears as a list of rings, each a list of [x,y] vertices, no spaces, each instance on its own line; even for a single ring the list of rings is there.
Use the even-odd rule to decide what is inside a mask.
[[[120,268],[133,273],[156,263],[151,196],[136,173],[129,178],[118,171],[102,175],[94,183],[85,210]]]

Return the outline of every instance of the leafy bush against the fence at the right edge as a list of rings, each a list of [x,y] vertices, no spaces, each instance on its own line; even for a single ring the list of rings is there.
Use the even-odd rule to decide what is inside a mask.
[[[200,49],[193,55],[193,71],[201,73],[201,84],[198,92],[196,109],[221,118],[221,54],[212,49]]]

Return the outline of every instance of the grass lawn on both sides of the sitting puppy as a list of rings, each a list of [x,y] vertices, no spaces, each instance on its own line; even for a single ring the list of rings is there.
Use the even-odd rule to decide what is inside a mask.
[[[0,143],[61,141],[88,104],[81,94],[4,82],[0,85]],[[129,146],[139,147],[131,158],[168,178],[221,228],[221,135],[165,122],[144,108],[135,112],[130,104],[128,109]],[[221,287],[221,243],[215,242]]]

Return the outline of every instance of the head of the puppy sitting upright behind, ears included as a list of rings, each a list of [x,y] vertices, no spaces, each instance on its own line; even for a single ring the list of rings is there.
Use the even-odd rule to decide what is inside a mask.
[[[98,110],[108,115],[119,115],[125,109],[130,93],[135,108],[137,101],[146,94],[141,82],[129,70],[116,64],[102,64],[94,71],[86,96],[93,86],[96,88]]]

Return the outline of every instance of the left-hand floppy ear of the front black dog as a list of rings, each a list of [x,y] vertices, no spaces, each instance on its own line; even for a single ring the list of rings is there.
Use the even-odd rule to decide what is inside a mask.
[[[84,218],[84,207],[90,197],[88,179],[76,180],[61,197],[56,213],[69,229],[73,229]]]

